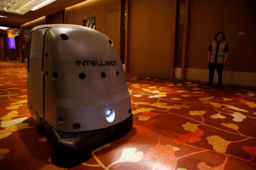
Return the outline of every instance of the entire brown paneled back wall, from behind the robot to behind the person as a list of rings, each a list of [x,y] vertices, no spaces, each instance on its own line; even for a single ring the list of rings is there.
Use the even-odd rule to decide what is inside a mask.
[[[224,70],[256,72],[256,1],[255,0],[186,0],[191,1],[188,56],[176,58],[176,66],[208,69],[207,49],[216,32],[223,31],[229,45]],[[172,78],[174,69],[175,21],[177,0],[127,0],[127,73]],[[28,31],[40,24],[82,25],[82,20],[96,16],[96,30],[105,33],[119,49],[120,0],[85,1],[56,14],[22,25],[23,45]],[[65,12],[64,12],[65,10]],[[188,9],[189,10],[189,9]],[[184,30],[185,31],[185,30]],[[189,33],[190,32],[190,33]],[[185,43],[183,44],[183,46]],[[23,56],[27,56],[23,49]],[[187,55],[187,51],[184,51]],[[179,55],[180,56],[180,55]],[[184,56],[184,54],[183,54]],[[180,63],[182,61],[182,63]]]

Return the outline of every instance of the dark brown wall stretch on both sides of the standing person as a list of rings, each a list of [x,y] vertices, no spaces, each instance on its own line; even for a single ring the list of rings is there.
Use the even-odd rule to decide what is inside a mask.
[[[218,31],[229,55],[224,70],[256,72],[256,1],[192,0],[188,68],[207,69],[207,49]]]

